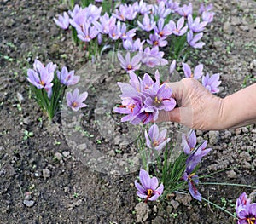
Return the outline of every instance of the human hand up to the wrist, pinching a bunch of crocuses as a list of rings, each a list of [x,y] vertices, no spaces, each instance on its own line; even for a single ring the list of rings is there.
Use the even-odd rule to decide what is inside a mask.
[[[177,83],[167,83],[177,107],[170,112],[160,111],[156,122],[182,123],[190,129],[224,129],[223,99],[212,95],[195,78],[183,78]]]

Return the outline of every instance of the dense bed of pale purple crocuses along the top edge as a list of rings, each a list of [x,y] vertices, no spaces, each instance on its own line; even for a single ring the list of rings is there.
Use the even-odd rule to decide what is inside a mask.
[[[101,4],[101,2],[98,3]],[[73,11],[58,15],[58,19],[54,18],[54,21],[57,26],[65,30],[69,25],[73,26],[83,42],[89,43],[95,38],[99,45],[121,41],[124,49],[140,50],[144,55],[154,53],[154,56],[160,56],[163,52],[158,48],[166,47],[167,38],[174,36],[186,35],[189,46],[201,49],[205,44],[200,42],[203,31],[207,24],[212,22],[214,16],[211,10],[212,5],[201,4],[198,15],[193,19],[192,3],[180,6],[172,0],[158,1],[154,4],[145,3],[143,0],[132,4],[121,3],[114,7],[111,14],[105,12],[102,6],[90,4],[83,9],[76,4]],[[171,14],[177,14],[180,18],[170,20]],[[131,24],[133,24],[132,29],[129,28]],[[145,40],[135,38],[137,32],[144,32],[144,36],[146,32]],[[154,48],[157,48],[157,52],[152,52]],[[160,54],[157,54],[158,52]],[[144,61],[144,63],[158,66],[151,61]]]

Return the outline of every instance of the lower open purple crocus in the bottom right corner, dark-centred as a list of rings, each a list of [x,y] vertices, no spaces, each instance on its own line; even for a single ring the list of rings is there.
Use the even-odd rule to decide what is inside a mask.
[[[256,203],[248,204],[239,210],[237,224],[254,224],[256,222]]]

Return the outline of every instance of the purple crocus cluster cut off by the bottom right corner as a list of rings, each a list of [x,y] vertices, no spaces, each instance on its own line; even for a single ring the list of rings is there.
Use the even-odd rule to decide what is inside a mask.
[[[238,224],[256,223],[256,203],[251,203],[251,199],[247,198],[246,192],[241,193],[236,200],[236,215]]]

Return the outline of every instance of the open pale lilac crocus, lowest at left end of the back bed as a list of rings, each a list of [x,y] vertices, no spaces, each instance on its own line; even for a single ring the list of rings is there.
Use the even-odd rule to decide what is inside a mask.
[[[90,42],[98,35],[99,31],[95,26],[91,26],[90,23],[84,22],[81,29],[78,31],[78,37],[84,42]]]

